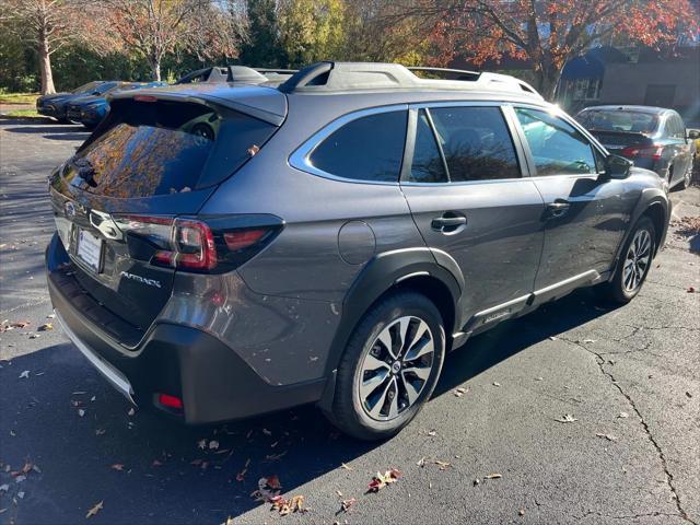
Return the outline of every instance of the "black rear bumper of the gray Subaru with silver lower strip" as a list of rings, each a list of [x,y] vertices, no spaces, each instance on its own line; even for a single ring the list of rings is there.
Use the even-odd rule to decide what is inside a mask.
[[[50,259],[54,237],[47,249]],[[61,270],[47,265],[51,303],[66,335],[102,375],[132,402],[189,424],[241,419],[320,399],[325,380],[272,386],[234,349],[197,328],[156,324],[135,349],[127,349],[78,307]],[[177,396],[184,409],[158,402],[159,394]]]

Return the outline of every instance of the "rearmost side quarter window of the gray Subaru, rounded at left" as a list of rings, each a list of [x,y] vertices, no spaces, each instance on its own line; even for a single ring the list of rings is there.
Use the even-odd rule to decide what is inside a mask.
[[[397,110],[351,120],[324,139],[312,152],[310,162],[337,177],[398,182],[407,118],[406,110]]]

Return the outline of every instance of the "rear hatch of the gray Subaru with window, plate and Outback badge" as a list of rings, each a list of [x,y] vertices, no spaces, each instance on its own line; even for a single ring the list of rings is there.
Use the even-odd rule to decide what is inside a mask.
[[[285,100],[275,101],[271,114],[270,104],[255,101],[141,93],[115,97],[108,117],[51,174],[49,185],[81,293],[143,334],[171,296],[178,271],[168,252],[175,225],[183,235],[199,235],[196,228],[187,233],[186,218],[272,136]],[[249,110],[244,103],[252,104]],[[186,247],[187,240],[177,242]],[[183,264],[201,262],[185,252],[177,254]]]

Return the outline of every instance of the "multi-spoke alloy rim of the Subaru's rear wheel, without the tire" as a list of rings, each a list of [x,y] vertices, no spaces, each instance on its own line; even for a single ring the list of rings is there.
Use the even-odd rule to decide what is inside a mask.
[[[404,316],[386,326],[365,354],[358,392],[365,413],[389,421],[416,404],[433,369],[434,338],[428,323]]]

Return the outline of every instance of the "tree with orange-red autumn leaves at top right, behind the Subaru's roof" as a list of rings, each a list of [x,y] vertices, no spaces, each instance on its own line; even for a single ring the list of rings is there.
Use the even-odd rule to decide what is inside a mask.
[[[698,34],[690,0],[408,0],[435,44],[435,62],[462,56],[477,66],[504,56],[528,60],[536,88],[551,98],[567,61],[592,45],[625,37],[644,46],[673,45]]]

